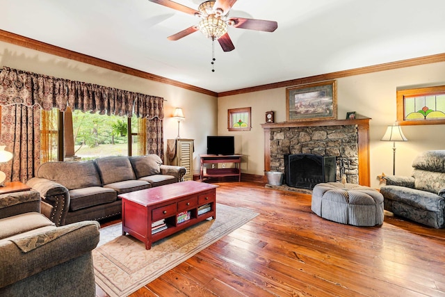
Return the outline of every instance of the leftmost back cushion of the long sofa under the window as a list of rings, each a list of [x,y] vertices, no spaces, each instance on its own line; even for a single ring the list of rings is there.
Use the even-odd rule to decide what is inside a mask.
[[[68,190],[101,186],[99,172],[94,161],[47,162],[40,165],[37,177],[49,179]]]

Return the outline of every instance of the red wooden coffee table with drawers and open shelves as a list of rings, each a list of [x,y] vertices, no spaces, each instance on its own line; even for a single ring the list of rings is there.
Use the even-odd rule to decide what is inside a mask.
[[[122,199],[122,235],[128,233],[143,241],[149,250],[154,241],[207,218],[216,218],[217,187],[187,181],[119,195]],[[165,224],[165,229],[156,232],[156,224]]]

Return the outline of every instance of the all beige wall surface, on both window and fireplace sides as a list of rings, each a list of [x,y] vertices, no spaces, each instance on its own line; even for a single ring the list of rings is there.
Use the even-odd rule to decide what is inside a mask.
[[[204,154],[207,149],[207,135],[219,134],[235,136],[236,152],[245,155],[241,166],[244,173],[264,175],[264,133],[261,129],[264,113],[275,111],[276,122],[286,119],[286,88],[216,99],[6,42],[0,42],[0,65],[163,97],[167,100],[164,105],[165,139],[177,136],[177,121],[169,116],[175,107],[182,107],[186,120],[181,122],[181,137],[195,139],[195,174],[199,170],[199,154]],[[371,186],[380,186],[377,175],[392,172],[392,143],[382,142],[380,138],[387,125],[396,120],[396,90],[444,84],[445,63],[337,79],[338,118],[345,118],[347,111],[372,118]],[[252,107],[252,130],[227,131],[227,109],[249,106]],[[403,131],[409,141],[396,143],[396,174],[410,175],[411,163],[419,152],[445,149],[444,125],[404,126]]]

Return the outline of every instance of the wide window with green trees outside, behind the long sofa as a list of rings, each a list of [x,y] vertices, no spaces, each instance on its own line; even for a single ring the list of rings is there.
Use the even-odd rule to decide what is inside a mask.
[[[145,141],[145,129],[140,127],[145,127],[145,119],[136,115],[42,111],[41,162],[145,154],[145,145],[140,145]]]

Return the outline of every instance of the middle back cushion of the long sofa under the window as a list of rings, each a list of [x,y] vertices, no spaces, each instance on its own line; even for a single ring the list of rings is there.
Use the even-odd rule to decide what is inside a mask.
[[[105,156],[95,159],[103,184],[136,179],[128,156]]]

